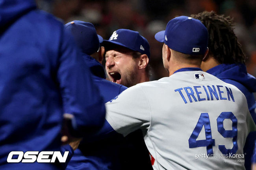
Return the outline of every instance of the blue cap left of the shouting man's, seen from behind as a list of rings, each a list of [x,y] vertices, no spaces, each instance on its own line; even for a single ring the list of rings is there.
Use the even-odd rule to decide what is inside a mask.
[[[72,33],[76,44],[87,55],[97,52],[103,42],[103,38],[97,35],[95,27],[89,22],[75,20],[65,24],[65,29]]]

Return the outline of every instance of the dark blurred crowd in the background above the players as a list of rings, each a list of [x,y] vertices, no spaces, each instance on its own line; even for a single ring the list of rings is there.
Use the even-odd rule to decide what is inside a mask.
[[[161,58],[163,44],[154,35],[165,30],[169,20],[202,11],[231,16],[247,56],[247,71],[256,77],[256,0],[37,0],[37,4],[64,24],[91,22],[104,39],[121,28],[138,31],[150,44],[150,80],[168,76]]]

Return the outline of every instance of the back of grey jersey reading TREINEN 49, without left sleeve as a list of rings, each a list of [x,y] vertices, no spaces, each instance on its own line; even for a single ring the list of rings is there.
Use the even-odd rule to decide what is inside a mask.
[[[244,169],[247,124],[255,124],[235,86],[203,71],[139,86],[151,111],[145,143],[154,169]]]

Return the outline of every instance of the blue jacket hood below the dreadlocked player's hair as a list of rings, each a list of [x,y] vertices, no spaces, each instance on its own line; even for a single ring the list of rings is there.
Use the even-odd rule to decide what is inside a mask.
[[[247,73],[244,64],[220,64],[206,72],[219,79],[234,80],[245,86],[249,91],[256,92],[256,79]]]

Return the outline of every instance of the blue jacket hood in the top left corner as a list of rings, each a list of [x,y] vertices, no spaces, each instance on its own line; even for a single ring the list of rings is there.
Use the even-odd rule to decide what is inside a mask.
[[[32,9],[36,9],[34,0],[0,0],[0,27],[10,24]]]

